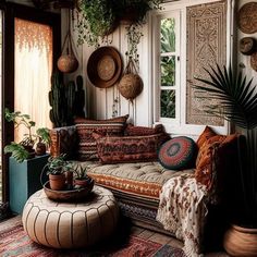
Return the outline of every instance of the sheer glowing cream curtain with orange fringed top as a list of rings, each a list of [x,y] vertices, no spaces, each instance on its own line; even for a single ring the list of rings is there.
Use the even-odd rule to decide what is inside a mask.
[[[36,128],[52,127],[48,101],[52,71],[50,26],[15,19],[14,69],[14,111],[29,114]],[[27,130],[23,126],[15,130],[15,142],[20,142],[25,133]]]

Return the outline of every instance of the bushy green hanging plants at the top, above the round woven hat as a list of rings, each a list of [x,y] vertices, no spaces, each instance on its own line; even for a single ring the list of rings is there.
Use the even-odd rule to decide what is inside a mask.
[[[146,13],[159,9],[160,3],[161,0],[81,0],[77,8],[81,14],[76,24],[77,44],[87,42],[97,48],[127,13],[135,13],[134,25],[143,24]],[[134,25],[127,27],[127,34],[137,30]],[[140,34],[138,32],[135,37]]]

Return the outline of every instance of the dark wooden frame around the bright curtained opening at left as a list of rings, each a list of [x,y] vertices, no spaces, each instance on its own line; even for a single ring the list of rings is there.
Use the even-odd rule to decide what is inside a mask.
[[[14,108],[14,19],[23,19],[37,22],[52,27],[52,64],[57,68],[57,60],[61,54],[61,14],[38,10],[32,7],[5,2],[0,4],[3,10],[3,56],[2,56],[2,110]],[[1,118],[2,126],[2,149],[14,139],[14,127],[11,123]],[[9,200],[9,156],[2,155],[3,172],[3,201]]]

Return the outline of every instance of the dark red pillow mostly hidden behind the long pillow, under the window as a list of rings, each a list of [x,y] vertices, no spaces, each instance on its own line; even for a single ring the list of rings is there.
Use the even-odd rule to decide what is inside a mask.
[[[124,134],[126,136],[146,136],[162,132],[164,132],[164,127],[162,126],[162,124],[157,124],[155,127],[134,126],[133,124],[127,124]]]

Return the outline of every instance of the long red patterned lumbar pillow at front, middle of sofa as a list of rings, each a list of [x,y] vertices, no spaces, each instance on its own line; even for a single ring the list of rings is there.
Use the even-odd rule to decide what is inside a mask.
[[[101,163],[156,161],[160,146],[170,136],[166,133],[146,136],[102,136],[94,133]]]

